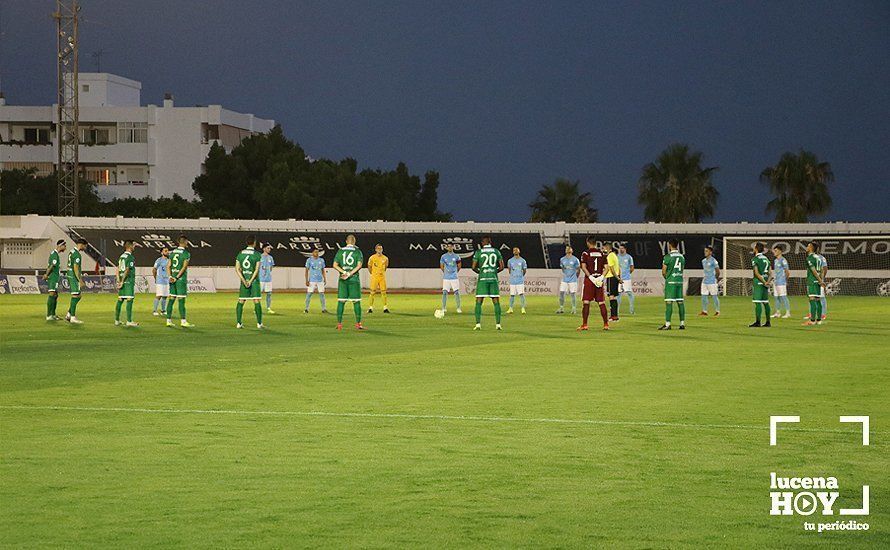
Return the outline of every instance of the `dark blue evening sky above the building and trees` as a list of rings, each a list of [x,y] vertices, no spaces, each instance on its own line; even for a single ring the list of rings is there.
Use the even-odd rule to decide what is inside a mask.
[[[720,167],[717,221],[767,220],[758,174],[801,147],[837,178],[828,219],[890,219],[890,2],[82,0],[81,70],[143,103],[279,121],[316,157],[438,170],[457,219],[527,219],[580,179],[639,221],[641,167],[674,141]],[[206,7],[205,7],[206,6]],[[49,0],[3,0],[9,104],[55,93]]]

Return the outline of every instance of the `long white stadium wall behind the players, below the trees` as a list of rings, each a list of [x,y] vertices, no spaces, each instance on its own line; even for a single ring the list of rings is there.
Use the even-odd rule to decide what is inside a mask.
[[[637,263],[635,288],[642,294],[657,293],[649,288],[660,278],[659,266],[666,241],[672,236],[681,239],[681,250],[689,260],[690,278],[700,277],[701,249],[711,244],[722,253],[725,236],[777,237],[812,236],[820,238],[890,235],[890,223],[475,223],[475,222],[346,222],[304,220],[215,220],[215,219],[151,219],[151,218],[85,218],[53,216],[0,216],[0,268],[5,273],[30,273],[42,270],[55,242],[83,236],[90,247],[84,258],[86,273],[113,274],[122,241],[132,238],[137,243],[138,274],[151,274],[151,265],[159,247],[172,243],[180,233],[192,241],[190,276],[212,279],[217,289],[234,289],[238,280],[232,269],[234,256],[243,246],[243,237],[256,234],[260,240],[272,242],[277,267],[274,286],[278,289],[302,289],[306,256],[319,248],[323,257],[333,257],[337,243],[347,233],[358,236],[358,245],[365,255],[382,242],[390,257],[387,280],[392,289],[441,288],[438,257],[448,242],[457,251],[469,256],[483,235],[492,235],[504,247],[518,245],[529,262],[529,279],[539,284],[529,293],[551,293],[558,284],[558,259],[566,243],[579,251],[587,235],[603,241],[627,242]],[[469,260],[464,261],[464,268]],[[467,270],[469,274],[469,271]],[[328,284],[336,277],[328,274]],[[362,272],[367,284],[367,272]],[[469,285],[469,280],[464,281]]]

